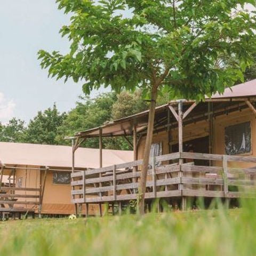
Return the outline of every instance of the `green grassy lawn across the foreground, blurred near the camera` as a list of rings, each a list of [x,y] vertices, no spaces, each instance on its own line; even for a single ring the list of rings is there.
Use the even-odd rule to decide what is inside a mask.
[[[242,209],[0,222],[0,255],[256,255],[255,201]]]

